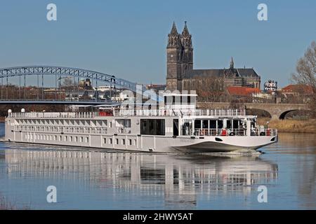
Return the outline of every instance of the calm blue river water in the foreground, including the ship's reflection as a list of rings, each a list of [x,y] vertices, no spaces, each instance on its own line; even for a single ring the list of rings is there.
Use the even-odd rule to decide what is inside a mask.
[[[0,142],[0,196],[18,209],[316,209],[316,135],[280,134],[262,151],[226,158]],[[47,202],[48,186],[57,203]]]

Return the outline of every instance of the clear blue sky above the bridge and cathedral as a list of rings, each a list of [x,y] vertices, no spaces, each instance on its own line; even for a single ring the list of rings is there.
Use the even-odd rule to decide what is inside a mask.
[[[0,1],[0,67],[58,65],[165,83],[167,34],[184,21],[195,69],[254,67],[264,82],[289,83],[296,61],[316,41],[315,0]],[[46,20],[55,3],[58,20]],[[258,21],[258,3],[268,21]]]

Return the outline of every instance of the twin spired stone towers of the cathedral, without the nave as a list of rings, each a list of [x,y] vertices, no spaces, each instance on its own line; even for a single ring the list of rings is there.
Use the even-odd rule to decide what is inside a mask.
[[[168,35],[167,45],[167,90],[182,90],[182,79],[186,70],[193,69],[192,36],[187,29],[187,22],[182,34],[178,34],[176,24]]]

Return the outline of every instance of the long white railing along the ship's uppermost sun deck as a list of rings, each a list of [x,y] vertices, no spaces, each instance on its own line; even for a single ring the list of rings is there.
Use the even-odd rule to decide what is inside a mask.
[[[96,118],[106,116],[214,116],[214,117],[232,117],[246,116],[244,109],[195,109],[195,110],[115,110],[114,113],[104,112],[31,112],[31,113],[8,113],[8,118]]]

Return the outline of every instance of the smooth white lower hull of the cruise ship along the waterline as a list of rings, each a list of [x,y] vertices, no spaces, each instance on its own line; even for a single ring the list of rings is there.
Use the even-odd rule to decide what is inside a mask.
[[[85,136],[84,136],[85,137]],[[92,139],[99,139],[98,141],[91,142],[88,144],[76,144],[68,143],[65,141],[50,141],[50,140],[35,140],[35,141],[21,141],[20,139],[6,139],[6,141],[17,142],[17,143],[28,143],[28,144],[45,144],[45,145],[56,145],[56,146],[73,146],[74,150],[77,147],[84,148],[100,148],[100,149],[112,149],[119,151],[139,151],[139,152],[151,152],[151,153],[227,153],[232,151],[256,151],[258,148],[263,146],[268,146],[269,144],[274,144],[277,142],[275,137],[261,137],[261,139],[256,139],[256,142],[249,144],[251,139],[246,137],[239,137],[236,139],[223,139],[223,142],[217,142],[213,138],[210,139],[159,139],[155,137],[146,137],[140,139],[140,144],[145,144],[146,146],[107,146],[106,144],[100,143],[101,137],[92,137]],[[125,137],[119,137],[119,139],[125,139]],[[136,138],[135,138],[136,139]],[[153,144],[148,144],[152,141]],[[155,141],[155,143],[154,143]]]

